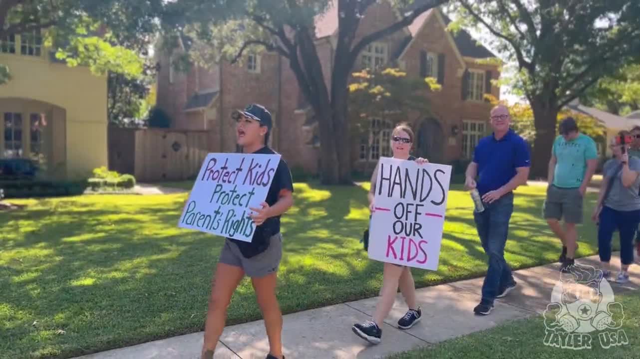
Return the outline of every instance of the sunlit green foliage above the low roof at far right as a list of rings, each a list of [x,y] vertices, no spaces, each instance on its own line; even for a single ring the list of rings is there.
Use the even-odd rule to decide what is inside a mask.
[[[611,76],[603,77],[580,101],[612,114],[624,116],[640,109],[640,64],[621,67]]]

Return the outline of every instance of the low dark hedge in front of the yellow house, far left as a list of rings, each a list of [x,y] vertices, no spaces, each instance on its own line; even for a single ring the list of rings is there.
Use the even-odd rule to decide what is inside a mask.
[[[0,181],[5,198],[60,197],[81,195],[86,190],[86,181],[17,180]]]

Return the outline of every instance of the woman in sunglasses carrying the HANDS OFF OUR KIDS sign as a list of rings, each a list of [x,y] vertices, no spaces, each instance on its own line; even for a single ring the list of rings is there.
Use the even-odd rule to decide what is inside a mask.
[[[418,164],[429,162],[424,158],[415,158],[409,155],[413,138],[413,131],[408,125],[402,123],[394,128],[391,142],[394,158],[400,160],[415,160]],[[368,194],[369,210],[371,210],[371,212],[375,210],[374,194],[376,192],[376,179],[378,178],[379,166],[380,163],[376,165],[376,169],[374,169],[373,175],[371,176],[371,190],[369,190]],[[422,318],[422,310],[420,310],[420,307],[417,307],[415,302],[415,284],[413,282],[411,268],[408,266],[400,266],[399,264],[385,263],[381,296],[376,305],[376,312],[374,312],[372,320],[362,324],[356,324],[352,328],[358,337],[372,344],[380,343],[382,339],[382,323],[394,305],[398,286],[404,296],[404,301],[409,307],[404,317],[401,317],[398,321],[398,328],[408,329],[420,321]]]

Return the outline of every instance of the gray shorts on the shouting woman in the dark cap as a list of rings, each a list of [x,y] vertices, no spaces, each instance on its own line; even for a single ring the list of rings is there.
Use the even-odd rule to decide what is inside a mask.
[[[219,263],[240,267],[248,277],[260,278],[278,271],[282,259],[282,234],[269,238],[269,248],[255,257],[245,258],[236,243],[225,240]]]

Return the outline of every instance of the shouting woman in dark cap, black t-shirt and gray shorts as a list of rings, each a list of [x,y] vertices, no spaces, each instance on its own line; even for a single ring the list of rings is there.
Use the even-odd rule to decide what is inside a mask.
[[[271,114],[260,105],[235,111],[237,144],[244,153],[276,154],[266,144],[271,131]],[[284,359],[282,355],[282,312],[276,299],[276,272],[282,259],[280,215],[293,204],[293,184],[287,163],[280,159],[262,208],[250,208],[257,225],[251,242],[227,238],[216,267],[207,311],[202,358],[212,359],[218,339],[225,327],[227,307],[244,275],[251,277],[257,302],[269,337],[267,359]]]

